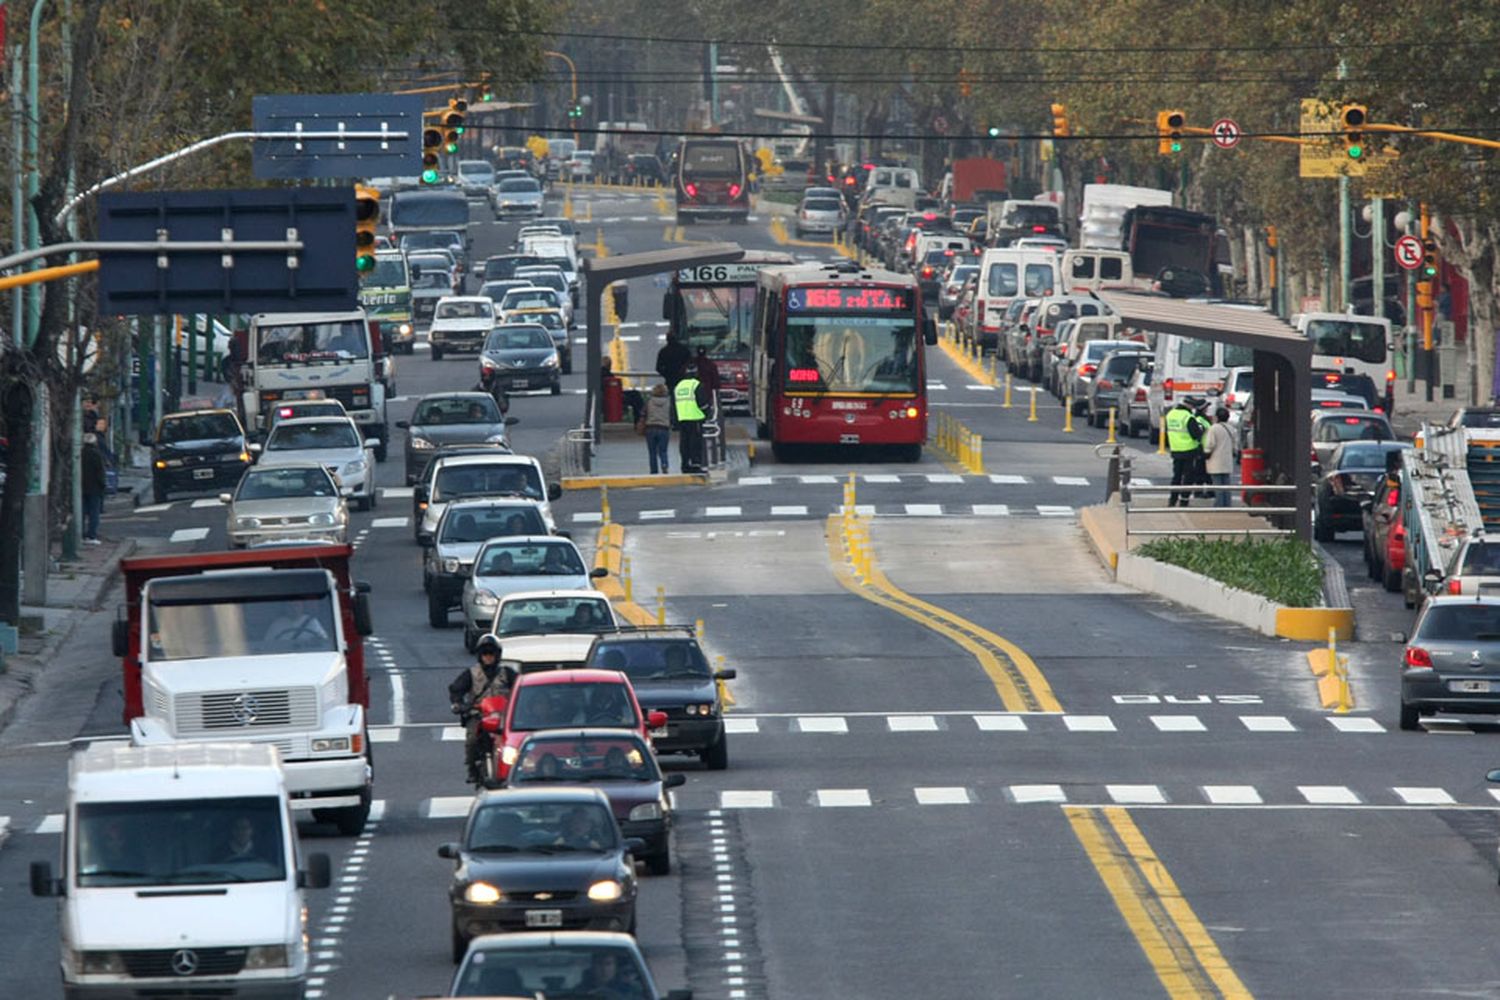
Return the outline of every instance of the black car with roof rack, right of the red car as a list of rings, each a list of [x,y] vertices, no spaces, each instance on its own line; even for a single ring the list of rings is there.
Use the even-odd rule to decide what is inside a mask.
[[[711,771],[729,766],[729,741],[718,682],[734,670],[712,670],[690,627],[620,630],[600,636],[586,667],[620,670],[630,678],[640,709],[666,712],[666,730],[651,744],[663,754],[694,754]]]

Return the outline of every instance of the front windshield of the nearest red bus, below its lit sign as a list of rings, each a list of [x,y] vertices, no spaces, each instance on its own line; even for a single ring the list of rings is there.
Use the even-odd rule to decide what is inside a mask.
[[[800,315],[786,319],[790,393],[915,393],[916,322],[909,315]]]

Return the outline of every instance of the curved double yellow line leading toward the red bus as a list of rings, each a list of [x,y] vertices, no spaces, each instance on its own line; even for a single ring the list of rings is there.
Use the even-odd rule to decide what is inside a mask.
[[[900,589],[880,571],[870,546],[870,573],[862,580],[854,574],[849,553],[838,531],[838,517],[824,525],[828,558],[834,576],[844,589],[886,607],[903,618],[930,628],[968,651],[994,684],[1000,703],[1011,712],[1060,712],[1062,705],[1052,693],[1036,663],[1016,643],[958,615]]]

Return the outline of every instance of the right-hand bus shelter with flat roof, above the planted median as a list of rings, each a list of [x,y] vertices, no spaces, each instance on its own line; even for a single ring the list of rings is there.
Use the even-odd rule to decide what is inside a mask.
[[[1278,316],[1162,295],[1098,292],[1134,330],[1233,343],[1254,351],[1256,447],[1268,483],[1296,486],[1298,537],[1312,537],[1312,343]]]

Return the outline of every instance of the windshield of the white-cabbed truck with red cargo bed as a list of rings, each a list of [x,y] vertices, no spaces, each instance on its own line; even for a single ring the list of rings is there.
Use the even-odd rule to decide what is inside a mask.
[[[232,600],[152,600],[147,616],[152,661],[228,660],[278,652],[333,652],[333,603],[328,594],[286,597],[244,594]],[[228,669],[228,664],[225,664]],[[231,681],[225,681],[231,685]],[[288,726],[300,711],[285,690],[266,691],[261,711],[249,723],[232,721],[236,691],[202,696],[206,726]],[[218,700],[214,700],[218,699]],[[219,705],[219,702],[224,702]],[[212,702],[212,705],[210,705]],[[208,712],[226,721],[208,721]],[[218,718],[218,715],[216,715]]]

